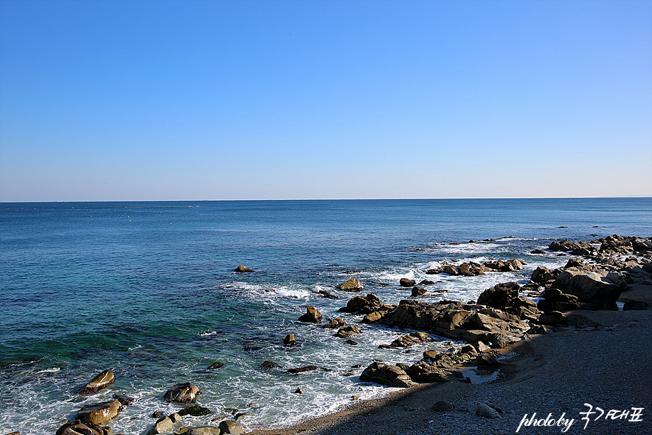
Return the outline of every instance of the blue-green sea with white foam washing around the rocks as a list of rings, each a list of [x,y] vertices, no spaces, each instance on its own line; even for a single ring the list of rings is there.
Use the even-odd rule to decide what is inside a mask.
[[[238,409],[249,414],[245,429],[387,394],[394,389],[359,381],[364,367],[419,360],[450,341],[378,349],[405,330],[361,325],[352,346],[334,330],[298,322],[306,306],[355,323],[361,316],[339,307],[356,294],[384,303],[410,298],[402,277],[436,281],[418,298],[424,302],[474,300],[499,282],[527,283],[537,266],[568,261],[531,250],[591,234],[651,236],[652,199],[2,203],[0,433],[51,435],[81,406],[125,394],[136,401],[109,425],[141,435],[154,411],[183,407],[162,399],[181,382],[198,386],[199,404],[213,411],[185,425],[217,426]],[[426,275],[442,261],[511,258],[527,266]],[[254,273],[233,272],[240,264]],[[361,293],[335,289],[351,277]],[[284,346],[288,334],[297,346]],[[265,360],[281,369],[259,369]],[[208,370],[216,361],[224,367]],[[286,372],[306,365],[320,369]],[[116,376],[112,386],[77,394],[104,369]]]

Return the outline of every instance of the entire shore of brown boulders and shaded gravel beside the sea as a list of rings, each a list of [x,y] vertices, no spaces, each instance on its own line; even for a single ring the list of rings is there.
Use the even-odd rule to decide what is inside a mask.
[[[601,243],[599,250],[596,243]],[[423,358],[412,365],[388,365],[373,360],[359,375],[360,381],[403,389],[374,399],[352,397],[352,402],[332,407],[337,411],[284,427],[261,429],[252,423],[252,430],[246,433],[468,435],[519,433],[524,427],[528,434],[652,433],[652,380],[646,376],[652,367],[652,351],[648,349],[652,343],[652,238],[614,235],[590,243],[553,241],[548,250],[573,257],[566,266],[553,270],[538,266],[529,282],[522,286],[517,282],[495,284],[483,291],[477,302],[446,299],[437,303],[419,302],[415,297],[425,290],[418,286],[435,284],[430,280],[417,284],[415,280],[401,278],[401,288],[412,287],[412,298],[403,299],[398,305],[382,303],[373,293],[362,296],[359,292],[362,285],[356,278],[340,284],[338,289],[354,294],[339,311],[364,315],[362,320],[356,317],[355,323],[414,331],[391,344],[378,346],[396,349],[388,359],[394,359],[401,348],[430,341],[429,334],[467,344],[459,349],[424,351]],[[535,251],[531,253],[543,253]],[[490,271],[522,270],[525,265],[518,259],[484,264],[443,261],[440,266],[426,270],[426,275],[446,273],[472,277]],[[240,268],[247,269],[239,266],[235,271]],[[616,300],[628,305],[623,306],[624,311],[618,310]],[[341,338],[355,337],[361,332],[353,324],[346,326],[339,317],[323,324],[323,316],[312,305],[297,320],[321,328],[339,328],[336,336]],[[286,340],[285,346],[296,344],[293,335],[288,335]],[[265,363],[279,367],[272,361]],[[318,366],[309,365],[287,371],[316,369]],[[497,377],[490,376],[494,380],[486,383],[471,383],[467,377],[467,373],[471,374],[469,370],[477,376],[497,374]],[[200,394],[191,383],[178,384],[175,389],[194,389],[195,394]],[[173,390],[166,392],[166,396],[176,395]],[[192,396],[184,400],[169,399],[169,402],[195,402],[195,399]],[[118,408],[111,411],[115,417],[122,406],[113,403]],[[293,409],[286,411],[291,413]],[[222,420],[219,429],[210,426],[204,427],[209,432],[201,432],[200,427],[180,427],[183,419],[176,413],[168,417],[161,414],[161,420],[148,434],[168,434],[174,428],[177,430],[173,433],[179,435],[242,434],[244,429],[238,420],[244,415],[247,414]],[[173,427],[173,422],[179,424]],[[258,429],[254,429],[256,426]],[[231,427],[235,432],[231,432]],[[99,435],[109,434],[110,429],[99,432]]]

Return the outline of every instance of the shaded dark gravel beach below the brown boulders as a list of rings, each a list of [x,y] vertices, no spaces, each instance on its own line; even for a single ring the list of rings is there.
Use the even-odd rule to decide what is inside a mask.
[[[557,328],[502,349],[504,365],[496,381],[420,385],[383,399],[352,402],[343,411],[292,427],[248,433],[652,434],[652,311],[577,311],[568,316],[574,326]],[[433,411],[433,404],[442,400],[455,409]],[[476,416],[480,403],[495,407],[499,417]],[[587,411],[595,412],[588,415],[588,421]],[[620,411],[629,413],[623,415]],[[560,418],[568,421],[566,426],[563,420],[554,426],[527,427],[524,423],[519,429],[524,417],[529,422],[533,413],[537,421],[550,414],[548,424]]]

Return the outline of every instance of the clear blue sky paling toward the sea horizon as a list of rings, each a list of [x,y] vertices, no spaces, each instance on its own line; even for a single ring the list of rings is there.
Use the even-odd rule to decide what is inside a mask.
[[[0,1],[0,201],[652,194],[652,1]]]

